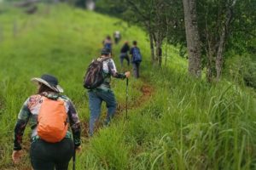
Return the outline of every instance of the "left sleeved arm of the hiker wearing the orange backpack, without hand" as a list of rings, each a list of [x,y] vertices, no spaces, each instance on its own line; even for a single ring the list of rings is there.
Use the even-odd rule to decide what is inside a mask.
[[[28,101],[29,99],[26,99],[26,102],[20,109],[18,121],[16,122],[16,125],[15,125],[14,150],[21,150],[23,133],[26,128],[26,124],[29,120],[29,117],[31,116],[31,111],[28,108]]]

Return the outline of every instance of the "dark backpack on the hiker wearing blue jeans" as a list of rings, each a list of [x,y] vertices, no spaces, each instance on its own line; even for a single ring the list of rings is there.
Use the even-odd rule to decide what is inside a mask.
[[[90,63],[84,75],[84,88],[97,88],[104,82],[103,61],[106,59],[110,59],[110,57],[94,59],[92,63]]]

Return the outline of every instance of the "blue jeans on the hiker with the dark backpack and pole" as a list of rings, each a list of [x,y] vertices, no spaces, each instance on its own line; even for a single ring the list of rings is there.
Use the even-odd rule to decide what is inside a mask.
[[[90,108],[90,122],[89,122],[89,133],[90,136],[93,135],[94,127],[96,121],[101,115],[102,101],[106,102],[108,108],[108,114],[105,120],[105,125],[108,125],[111,119],[113,118],[116,101],[114,94],[111,90],[108,92],[105,91],[89,91],[89,108]]]

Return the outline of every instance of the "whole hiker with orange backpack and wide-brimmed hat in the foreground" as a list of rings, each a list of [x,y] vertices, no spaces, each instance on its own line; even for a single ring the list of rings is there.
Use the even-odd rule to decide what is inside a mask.
[[[13,161],[21,157],[21,142],[26,123],[32,128],[30,159],[34,170],[67,170],[74,150],[80,150],[80,123],[77,111],[56,77],[44,74],[32,78],[38,93],[26,99],[15,126]],[[68,131],[68,124],[72,132]],[[72,140],[73,135],[73,140]]]

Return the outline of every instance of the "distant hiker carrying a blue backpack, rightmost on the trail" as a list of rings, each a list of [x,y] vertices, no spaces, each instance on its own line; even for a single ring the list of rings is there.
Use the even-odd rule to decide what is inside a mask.
[[[133,75],[135,78],[140,77],[139,74],[139,67],[142,62],[142,54],[140,52],[140,49],[137,47],[137,41],[132,42],[133,47],[130,50],[131,54],[131,63],[133,67]]]

